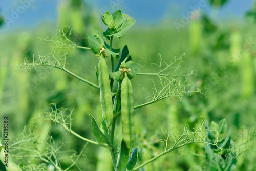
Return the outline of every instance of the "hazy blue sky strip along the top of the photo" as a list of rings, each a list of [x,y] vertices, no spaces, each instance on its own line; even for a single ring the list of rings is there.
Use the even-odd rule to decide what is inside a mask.
[[[200,7],[200,10],[212,14],[214,10],[209,6],[207,0],[94,0],[87,3],[100,13],[117,9],[134,17],[137,24],[157,24],[165,18],[180,18],[182,14],[191,11],[191,7],[199,5],[199,2],[206,2],[206,6]],[[23,3],[22,3],[23,2]],[[26,3],[25,3],[26,2]],[[40,23],[56,23],[57,7],[61,0],[12,0],[2,1],[0,4],[1,15],[9,20],[9,27],[2,27],[3,30],[16,30],[20,28],[28,29],[38,26]],[[216,20],[237,18],[242,19],[244,13],[251,8],[253,0],[241,1],[230,0],[227,4],[218,10]],[[26,8],[24,8],[26,7]],[[215,10],[216,11],[216,10]],[[14,14],[15,12],[16,15]]]

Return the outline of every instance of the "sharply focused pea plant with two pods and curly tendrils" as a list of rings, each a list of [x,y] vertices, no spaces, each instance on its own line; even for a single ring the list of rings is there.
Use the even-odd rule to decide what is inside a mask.
[[[138,108],[150,105],[167,97],[177,96],[182,98],[182,95],[203,93],[201,93],[198,88],[195,88],[187,79],[187,77],[196,75],[196,73],[194,70],[186,70],[182,68],[182,57],[184,54],[182,54],[180,57],[173,57],[169,62],[163,62],[161,55],[159,55],[160,62],[158,64],[153,63],[153,65],[157,66],[159,70],[152,73],[141,73],[141,65],[133,61],[127,45],[122,48],[121,52],[120,49],[113,48],[114,39],[124,37],[128,30],[135,24],[135,20],[133,20],[133,18],[129,15],[123,14],[121,10],[115,11],[112,15],[109,13],[109,11],[107,11],[104,15],[101,15],[101,20],[108,28],[103,33],[99,30],[93,29],[92,33],[87,35],[89,47],[81,47],[72,42],[69,39],[71,31],[68,32],[65,29],[68,26],[63,26],[60,30],[58,30],[57,38],[47,37],[41,39],[50,42],[52,48],[52,53],[50,55],[38,55],[38,59],[35,59],[33,56],[33,61],[31,63],[25,59],[24,64],[22,65],[25,66],[22,70],[37,68],[39,66],[57,68],[83,81],[92,88],[99,90],[100,102],[98,105],[101,105],[101,115],[103,118],[102,123],[99,124],[91,115],[92,132],[97,141],[83,137],[73,131],[73,109],[57,108],[56,104],[52,104],[50,112],[39,114],[37,117],[32,119],[32,122],[51,120],[54,123],[63,126],[64,129],[81,140],[108,149],[111,154],[112,164],[115,171],[139,170],[159,157],[192,143],[204,143],[207,151],[206,156],[208,158],[210,157],[208,164],[216,164],[216,160],[219,160],[219,157],[221,156],[220,154],[224,148],[230,148],[233,143],[229,133],[226,139],[218,139],[219,132],[223,134],[227,131],[226,120],[221,121],[219,125],[212,122],[211,126],[209,126],[208,122],[205,119],[202,119],[202,124],[196,124],[193,131],[188,129],[188,126],[185,125],[182,133],[175,133],[172,129],[166,128],[164,138],[157,138],[159,142],[163,143],[163,152],[145,162],[138,160],[138,158],[141,158],[139,157],[141,152],[139,148],[142,147],[138,147],[135,140],[136,127],[134,123],[136,120],[134,120],[134,111]],[[61,58],[56,57],[57,49],[69,48],[88,49],[98,57],[99,62],[95,67],[98,83],[90,82],[87,79],[84,79],[68,70],[66,68],[67,59],[69,57],[68,53],[62,53]],[[115,61],[118,61],[117,65],[115,65]],[[108,68],[109,66],[111,66],[110,69]],[[143,104],[137,104],[137,102],[134,100],[134,87],[131,79],[134,77],[143,76],[152,77],[152,92],[144,89],[151,100]],[[158,82],[156,82],[156,80],[158,80]],[[115,129],[118,121],[117,119],[119,117],[121,117],[122,124],[121,140],[115,137],[115,132],[119,131]],[[27,135],[24,132],[22,140],[16,142],[15,144],[22,144],[31,140],[37,141],[35,136],[32,135],[32,133]],[[221,144],[219,144],[218,141],[221,142]],[[39,147],[36,147],[36,150],[35,148],[27,148],[31,152],[33,151],[33,155],[30,157],[37,157],[42,162],[53,166],[54,169],[63,170],[59,162],[61,159],[57,157],[61,145],[56,146],[52,137],[48,141],[45,141],[45,143],[46,146],[48,146],[48,151],[40,151]],[[13,146],[15,148],[15,145]],[[82,151],[83,150],[84,148]],[[71,158],[73,164],[67,167],[65,170],[69,170],[71,167],[77,167],[78,170],[84,170],[84,168],[80,168],[76,163],[77,160],[82,156],[82,151],[80,154],[69,157]],[[230,151],[225,151],[226,154],[230,154],[228,156],[228,161],[224,161],[225,158],[222,158],[222,162],[224,162],[222,165],[225,167],[225,170],[229,170],[230,167],[236,163],[236,158],[238,155],[234,155],[231,152],[233,152],[231,149]],[[225,165],[225,162],[228,163]],[[23,169],[28,169],[25,166],[20,167],[23,167]],[[45,165],[39,164],[37,166],[32,165],[31,167],[33,167],[34,170],[46,170]]]

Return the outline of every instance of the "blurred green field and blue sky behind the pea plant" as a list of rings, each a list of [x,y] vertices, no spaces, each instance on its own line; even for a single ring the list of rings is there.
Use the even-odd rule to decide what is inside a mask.
[[[157,72],[157,68],[152,67],[151,63],[159,62],[158,53],[166,62],[185,53],[182,65],[197,70],[197,76],[189,77],[190,81],[207,95],[205,98],[202,94],[192,94],[184,96],[181,101],[177,97],[169,97],[135,110],[137,145],[145,147],[144,156],[150,158],[162,151],[162,144],[153,139],[164,136],[161,129],[177,126],[176,130],[182,132],[185,124],[193,126],[200,123],[200,116],[217,123],[227,118],[232,139],[241,143],[240,127],[245,126],[250,132],[256,121],[256,4],[248,1],[247,6],[241,5],[244,10],[238,10],[239,14],[236,15],[236,12],[225,12],[225,8],[236,11],[240,7],[236,4],[237,1],[220,1],[221,4],[215,3],[218,1],[207,1],[205,6],[200,6],[199,2],[181,3],[178,4],[181,10],[161,14],[161,7],[164,9],[167,6],[165,1],[156,7],[156,11],[154,8],[150,9],[152,7],[148,4],[134,5],[126,1],[92,3],[73,0],[54,2],[53,6],[45,1],[45,11],[40,9],[38,13],[48,13],[47,7],[50,12],[41,22],[34,21],[37,14],[33,16],[32,12],[26,13],[26,10],[38,8],[32,1],[22,14],[27,20],[31,17],[34,22],[24,21],[22,14],[21,21],[19,18],[11,18],[10,9],[15,11],[22,6],[19,2],[13,2],[16,8],[10,7],[6,16],[3,13],[0,15],[0,125],[3,117],[8,116],[10,142],[18,141],[26,126],[42,137],[51,135],[56,144],[64,142],[63,151],[72,149],[79,153],[85,143],[60,125],[52,122],[32,124],[31,118],[49,111],[50,103],[56,103],[58,108],[75,108],[73,117],[77,118],[73,120],[73,130],[88,139],[95,139],[89,114],[99,123],[102,120],[97,89],[55,68],[38,67],[29,72],[24,70],[15,73],[22,69],[18,65],[25,58],[32,62],[33,55],[37,57],[51,52],[49,42],[38,41],[38,37],[55,36],[56,29],[62,25],[70,25],[75,28],[71,40],[77,45],[88,47],[86,34],[91,33],[93,28],[102,32],[106,29],[102,25],[100,14],[106,10],[112,13],[120,8],[122,12],[134,17],[136,24],[124,38],[115,39],[113,47],[122,48],[126,44],[133,61],[142,66],[141,72]],[[196,5],[199,8],[191,13],[189,6]],[[147,6],[150,6],[148,10],[151,12],[147,11]],[[170,6],[169,4],[168,7]],[[171,7],[169,10],[176,9],[174,4]],[[5,6],[1,8],[4,9]],[[141,10],[141,13],[146,11],[147,17],[142,14],[140,16],[135,10]],[[69,55],[67,68],[97,84],[95,65],[98,58],[91,51],[81,49],[71,49]],[[137,76],[132,80],[135,105],[150,100],[145,98],[147,95],[143,91],[143,87],[151,86],[148,79],[150,78]],[[118,126],[117,130],[120,130],[120,120]],[[253,145],[245,148],[250,148],[250,151],[238,158],[236,170],[255,170],[255,148]],[[31,164],[30,158],[20,157],[20,149],[13,151],[12,154],[17,155],[13,158],[14,161],[24,161],[24,165]],[[194,155],[195,151],[202,151],[202,146],[186,146],[163,156],[143,170],[200,170],[204,159]],[[98,146],[88,144],[83,154],[77,164],[86,168],[84,170],[112,167],[110,154]],[[61,162],[63,168],[72,163],[68,160]]]

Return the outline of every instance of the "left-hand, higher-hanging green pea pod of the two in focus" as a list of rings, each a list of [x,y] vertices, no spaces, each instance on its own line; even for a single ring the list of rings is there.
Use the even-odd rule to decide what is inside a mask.
[[[99,89],[102,117],[108,129],[113,122],[113,102],[110,89],[108,65],[101,54],[99,57]]]

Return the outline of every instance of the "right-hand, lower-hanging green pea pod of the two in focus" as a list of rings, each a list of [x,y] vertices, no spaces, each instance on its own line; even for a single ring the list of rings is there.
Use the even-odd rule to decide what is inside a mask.
[[[122,131],[123,141],[131,154],[135,137],[133,110],[132,83],[127,76],[127,71],[124,71],[124,78],[121,84]]]

